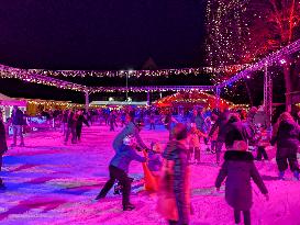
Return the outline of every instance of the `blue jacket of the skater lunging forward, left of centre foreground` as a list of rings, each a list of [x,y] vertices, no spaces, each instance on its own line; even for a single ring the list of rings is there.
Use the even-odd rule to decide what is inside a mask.
[[[110,165],[129,172],[130,162],[132,160],[145,162],[146,158],[136,154],[131,146],[122,145],[111,159]]]

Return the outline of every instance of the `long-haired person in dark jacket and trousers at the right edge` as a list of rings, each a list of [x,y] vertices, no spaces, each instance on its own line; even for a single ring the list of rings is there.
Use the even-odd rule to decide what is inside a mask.
[[[271,145],[277,143],[276,162],[279,169],[279,179],[284,179],[285,171],[288,168],[299,180],[299,165],[297,160],[297,151],[299,148],[300,128],[293,117],[288,112],[284,112],[274,127]]]

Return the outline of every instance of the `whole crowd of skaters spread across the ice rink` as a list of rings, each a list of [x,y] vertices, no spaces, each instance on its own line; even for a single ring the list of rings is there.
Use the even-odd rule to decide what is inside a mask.
[[[104,122],[112,132],[119,123],[122,130],[112,142],[115,155],[109,164],[110,178],[96,200],[105,198],[118,181],[122,191],[123,210],[134,210],[135,206],[130,202],[132,179],[129,177],[129,167],[132,160],[137,160],[145,164],[151,171],[154,183],[147,189],[157,192],[157,211],[168,220],[169,224],[189,223],[189,215],[192,213],[190,165],[201,164],[201,153],[211,151],[215,154],[215,164],[219,166],[222,149],[225,147],[226,151],[223,164],[220,165],[215,188],[220,190],[223,180],[226,179],[225,200],[233,207],[234,221],[236,224],[241,223],[241,212],[243,212],[244,224],[248,225],[251,224],[252,179],[268,200],[267,187],[254,164],[254,160],[269,159],[266,147],[277,145],[278,179],[285,179],[288,166],[296,180],[299,180],[300,172],[297,159],[300,127],[296,119],[290,113],[284,112],[271,131],[266,123],[260,123],[262,121],[257,123],[255,119],[257,112],[256,108],[252,108],[248,112],[212,110],[208,113],[202,108],[195,108],[190,113],[175,116],[171,112],[165,112],[163,115],[152,110],[137,112],[132,109],[123,111],[102,109],[97,113],[66,110],[60,113],[59,120],[65,144],[69,135],[71,135],[73,144],[80,142],[84,123],[90,126],[96,122],[99,124]],[[20,136],[20,146],[24,146],[23,113],[16,106],[12,112],[11,123],[12,146],[16,145],[16,136]],[[169,131],[169,140],[165,149],[162,149],[158,143],[152,143],[151,147],[145,145],[140,136],[145,123],[149,124],[149,130],[155,130],[155,125],[162,123]],[[0,168],[2,155],[7,150],[5,131],[0,120]],[[144,156],[137,151],[143,151]],[[148,181],[145,180],[146,182]],[[1,179],[0,185],[3,185]]]

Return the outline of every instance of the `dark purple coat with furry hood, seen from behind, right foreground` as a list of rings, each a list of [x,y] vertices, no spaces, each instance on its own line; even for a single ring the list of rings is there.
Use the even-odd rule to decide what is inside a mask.
[[[268,193],[267,188],[259,176],[253,155],[248,151],[227,150],[225,161],[215,180],[215,187],[220,188],[226,178],[225,200],[235,210],[247,211],[252,207],[251,179],[257,184],[263,194]]]

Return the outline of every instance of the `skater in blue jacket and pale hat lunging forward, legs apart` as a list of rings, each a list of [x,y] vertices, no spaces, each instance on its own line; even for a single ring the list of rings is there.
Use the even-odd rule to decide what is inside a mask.
[[[105,198],[107,193],[113,187],[114,181],[119,180],[122,188],[122,205],[123,211],[134,210],[135,206],[130,203],[131,179],[127,176],[129,167],[132,160],[145,162],[146,158],[136,154],[134,136],[126,136],[123,144],[116,150],[114,157],[110,161],[109,172],[110,179],[107,181],[96,200]]]

